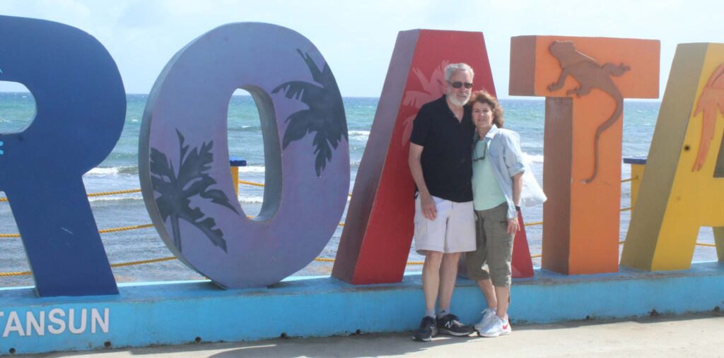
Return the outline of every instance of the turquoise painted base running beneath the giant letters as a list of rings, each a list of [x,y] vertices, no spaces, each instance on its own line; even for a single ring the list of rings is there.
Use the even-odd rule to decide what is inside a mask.
[[[185,281],[121,284],[119,291],[38,298],[32,288],[0,289],[0,354],[186,344],[197,338],[252,341],[282,333],[410,331],[424,312],[419,274],[405,275],[400,284],[369,286],[317,277],[287,278],[267,289],[224,290],[208,281]],[[534,278],[513,282],[512,298],[513,323],[707,311],[724,306],[724,263],[657,273],[621,268],[591,276],[536,270]],[[477,286],[460,278],[452,312],[473,323],[484,306]]]

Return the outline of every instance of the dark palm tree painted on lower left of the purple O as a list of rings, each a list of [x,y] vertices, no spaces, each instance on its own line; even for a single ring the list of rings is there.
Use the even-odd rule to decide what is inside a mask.
[[[171,218],[174,244],[179,251],[182,251],[179,228],[179,219],[182,219],[201,230],[216,247],[221,247],[224,252],[227,252],[224,232],[221,229],[214,229],[216,226],[214,218],[206,217],[202,220],[206,214],[201,211],[201,208],[192,209],[190,200],[191,197],[198,195],[204,199],[210,199],[212,203],[230,208],[238,214],[222,190],[209,189],[211,185],[216,184],[216,180],[208,174],[211,162],[214,160],[214,154],[211,153],[214,141],[203,142],[201,149],[193,148],[189,151],[189,146],[184,145],[185,138],[181,132],[176,129],[176,133],[179,137],[181,153],[178,174],[174,170],[173,163],[164,153],[156,148],[151,148],[151,183],[153,190],[161,194],[156,198],[161,218],[164,222]]]

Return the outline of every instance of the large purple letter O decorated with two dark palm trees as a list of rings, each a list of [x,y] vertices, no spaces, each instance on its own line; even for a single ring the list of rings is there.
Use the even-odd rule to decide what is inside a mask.
[[[255,99],[266,188],[249,219],[229,171],[232,93]],[[182,48],[153,85],[138,150],[143,199],[180,260],[228,288],[304,268],[334,234],[350,181],[342,97],[313,44],[285,27],[217,27]]]

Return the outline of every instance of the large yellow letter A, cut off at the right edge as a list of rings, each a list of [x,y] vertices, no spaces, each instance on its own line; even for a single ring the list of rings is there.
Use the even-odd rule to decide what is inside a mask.
[[[699,227],[724,260],[724,44],[676,48],[621,265],[687,270]]]

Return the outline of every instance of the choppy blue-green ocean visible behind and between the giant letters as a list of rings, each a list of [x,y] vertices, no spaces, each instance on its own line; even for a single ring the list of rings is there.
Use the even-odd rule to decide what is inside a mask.
[[[95,169],[83,176],[88,193],[138,189],[138,132],[148,95],[127,95],[125,127],[113,152]],[[350,192],[369,138],[378,98],[343,98],[350,141]],[[542,99],[502,100],[505,108],[505,127],[521,135],[521,148],[531,169],[542,183],[544,101]],[[660,102],[626,101],[623,121],[623,157],[645,158],[656,125]],[[18,132],[28,126],[35,113],[35,101],[30,93],[0,93],[0,133]],[[235,95],[229,103],[230,155],[246,159],[248,166],[240,168],[240,179],[264,182],[264,148],[258,112],[248,95]],[[631,176],[631,169],[622,163],[622,179]],[[4,195],[2,195],[4,196]],[[622,207],[630,206],[631,184],[621,191]],[[240,185],[238,200],[245,213],[255,216],[261,209],[264,188]],[[135,226],[151,223],[140,193],[90,197],[90,205],[99,229]],[[345,212],[346,216],[346,212]],[[342,217],[342,222],[345,220]],[[523,208],[525,221],[542,221],[542,205]],[[620,239],[625,239],[630,213],[621,213]],[[8,203],[0,203],[0,234],[17,233]],[[541,252],[542,226],[527,226],[531,254]],[[342,228],[335,231],[320,257],[334,258]],[[156,233],[156,229],[136,229],[101,234],[111,263],[128,263],[172,256]],[[714,242],[712,229],[702,228],[698,242]],[[411,250],[409,261],[423,257]],[[713,247],[696,247],[694,261],[716,260]],[[534,266],[540,259],[534,259]],[[421,265],[408,265],[408,270],[421,270]],[[25,251],[19,238],[0,238],[0,273],[29,270]],[[295,275],[329,275],[332,263],[313,262]],[[203,279],[203,276],[178,260],[113,269],[118,282],[177,281]],[[31,276],[0,277],[0,287],[33,286]]]

